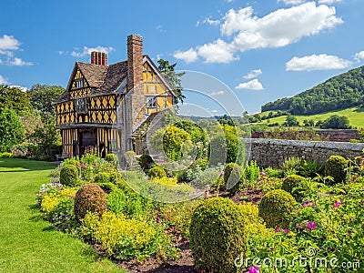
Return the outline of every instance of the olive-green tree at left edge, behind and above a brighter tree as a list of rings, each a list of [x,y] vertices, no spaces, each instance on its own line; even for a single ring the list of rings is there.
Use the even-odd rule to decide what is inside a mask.
[[[17,87],[0,86],[0,112],[6,108],[14,109],[17,116],[34,113],[28,95]]]

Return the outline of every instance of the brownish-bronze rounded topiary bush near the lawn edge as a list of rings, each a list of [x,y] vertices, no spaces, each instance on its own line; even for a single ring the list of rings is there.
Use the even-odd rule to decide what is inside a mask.
[[[75,215],[83,219],[87,212],[96,212],[101,216],[106,210],[106,196],[96,184],[85,184],[76,192]]]

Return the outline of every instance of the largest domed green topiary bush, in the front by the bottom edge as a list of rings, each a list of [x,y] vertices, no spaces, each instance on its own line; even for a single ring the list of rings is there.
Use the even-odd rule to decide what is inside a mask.
[[[207,199],[195,209],[189,244],[197,268],[205,272],[236,272],[234,260],[244,245],[241,209],[228,198]]]

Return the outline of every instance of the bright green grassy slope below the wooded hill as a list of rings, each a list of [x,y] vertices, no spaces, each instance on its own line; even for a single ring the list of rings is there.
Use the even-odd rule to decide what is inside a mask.
[[[268,112],[260,113],[259,116],[267,116]],[[325,114],[311,115],[311,116],[297,116],[299,123],[302,125],[305,119],[313,119],[316,122],[319,120],[324,121],[329,116],[339,115],[339,116],[347,116],[349,118],[350,126],[364,128],[364,108],[362,107],[351,107],[348,109],[333,111]],[[283,124],[286,120],[286,116],[277,116],[262,120],[262,124],[274,124],[278,123],[279,125]]]

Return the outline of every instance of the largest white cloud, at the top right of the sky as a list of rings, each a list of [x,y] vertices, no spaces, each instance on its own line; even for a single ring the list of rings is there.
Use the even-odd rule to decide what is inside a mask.
[[[253,16],[253,8],[230,9],[221,25],[223,35],[233,35],[233,45],[245,51],[254,48],[281,47],[298,42],[302,37],[317,35],[342,24],[335,7],[309,2],[278,9],[264,17]]]

